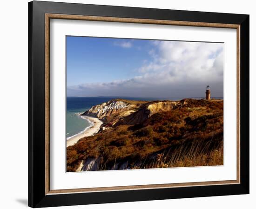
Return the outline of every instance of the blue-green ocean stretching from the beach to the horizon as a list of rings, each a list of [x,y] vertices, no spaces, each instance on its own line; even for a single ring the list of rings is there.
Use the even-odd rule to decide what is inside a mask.
[[[67,97],[67,111],[66,111],[66,139],[85,131],[92,126],[92,123],[79,116],[80,113],[87,111],[92,106],[108,102],[111,99],[120,97]],[[182,98],[131,98],[122,97],[129,100],[181,100]],[[199,99],[199,98],[198,98]]]

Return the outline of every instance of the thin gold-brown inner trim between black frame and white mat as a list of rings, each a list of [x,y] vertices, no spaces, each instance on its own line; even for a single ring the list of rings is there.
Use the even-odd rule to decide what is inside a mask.
[[[236,180],[228,181],[209,181],[209,182],[192,182],[192,183],[167,183],[167,184],[151,184],[151,185],[135,185],[135,186],[115,186],[115,187],[99,187],[99,188],[81,188],[81,189],[56,189],[50,190],[50,19],[66,19],[66,20],[91,20],[91,21],[108,21],[108,22],[124,22],[124,23],[142,23],[142,24],[158,24],[158,25],[176,25],[176,26],[203,26],[203,27],[220,27],[234,28],[237,34],[237,56],[236,56],[236,73],[237,73],[237,159],[236,159]],[[77,192],[101,192],[113,190],[134,190],[134,189],[160,189],[170,187],[187,187],[187,186],[206,186],[221,184],[239,184],[240,183],[240,25],[206,23],[206,22],[185,22],[173,20],[149,20],[149,19],[133,19],[133,18],[115,18],[101,16],[84,16],[84,15],[68,15],[68,14],[45,14],[45,194],[60,193],[77,193]]]

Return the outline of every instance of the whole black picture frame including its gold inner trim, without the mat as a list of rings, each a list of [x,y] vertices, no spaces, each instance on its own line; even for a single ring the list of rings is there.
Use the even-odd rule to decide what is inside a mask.
[[[236,180],[50,189],[51,19],[236,29]],[[28,82],[28,206],[249,194],[249,15],[32,1],[28,3]]]

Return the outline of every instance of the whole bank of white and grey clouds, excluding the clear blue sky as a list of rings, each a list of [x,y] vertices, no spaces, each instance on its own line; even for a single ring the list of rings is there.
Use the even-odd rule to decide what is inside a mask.
[[[223,97],[223,44],[154,41],[148,54],[134,78],[67,86],[67,96],[204,97],[210,85]]]

